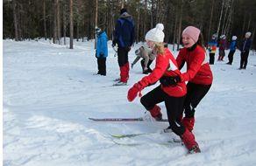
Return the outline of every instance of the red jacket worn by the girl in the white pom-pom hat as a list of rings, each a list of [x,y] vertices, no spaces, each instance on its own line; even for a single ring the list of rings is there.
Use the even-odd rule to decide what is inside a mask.
[[[165,53],[163,55],[158,54],[156,56],[156,63],[153,72],[142,78],[142,80],[139,81],[139,84],[146,87],[160,80],[163,75],[179,75],[181,77],[181,72],[177,67],[176,60],[174,59],[173,54],[167,48],[165,48]],[[187,93],[187,88],[184,81],[178,83],[177,86],[161,86],[161,88],[165,93],[174,97],[181,97]]]

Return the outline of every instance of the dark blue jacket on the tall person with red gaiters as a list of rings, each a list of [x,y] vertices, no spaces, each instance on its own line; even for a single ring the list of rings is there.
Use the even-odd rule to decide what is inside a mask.
[[[135,39],[134,23],[132,16],[126,13],[117,19],[114,31],[113,44],[117,43],[118,47],[132,46]]]

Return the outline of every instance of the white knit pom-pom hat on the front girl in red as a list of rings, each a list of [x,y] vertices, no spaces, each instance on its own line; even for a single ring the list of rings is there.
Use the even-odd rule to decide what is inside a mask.
[[[163,32],[163,30],[163,24],[156,24],[155,28],[146,32],[145,39],[154,42],[163,42],[165,38],[165,33]]]

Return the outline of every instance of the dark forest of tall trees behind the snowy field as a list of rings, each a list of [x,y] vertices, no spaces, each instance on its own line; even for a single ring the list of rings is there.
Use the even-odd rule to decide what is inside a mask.
[[[66,45],[66,37],[95,38],[94,29],[99,26],[111,39],[123,7],[134,19],[137,42],[144,41],[146,31],[155,24],[163,23],[165,42],[170,44],[179,45],[182,30],[195,25],[205,42],[214,33],[225,34],[228,40],[236,35],[239,42],[251,31],[256,48],[256,1],[252,0],[4,0],[3,36],[16,41],[50,38]],[[73,43],[69,45],[73,48]]]

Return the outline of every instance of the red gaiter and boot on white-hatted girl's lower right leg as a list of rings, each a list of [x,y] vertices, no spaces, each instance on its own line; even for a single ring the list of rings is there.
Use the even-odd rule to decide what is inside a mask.
[[[195,140],[195,136],[191,132],[189,132],[187,128],[185,129],[184,134],[181,135],[181,140],[184,143],[185,147],[188,149],[189,154],[201,152]]]

